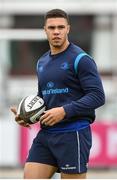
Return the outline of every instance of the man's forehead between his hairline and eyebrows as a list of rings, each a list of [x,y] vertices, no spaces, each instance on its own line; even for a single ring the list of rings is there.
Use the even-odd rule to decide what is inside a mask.
[[[67,20],[65,18],[48,18],[46,20],[46,26],[58,26],[58,25],[67,25]]]

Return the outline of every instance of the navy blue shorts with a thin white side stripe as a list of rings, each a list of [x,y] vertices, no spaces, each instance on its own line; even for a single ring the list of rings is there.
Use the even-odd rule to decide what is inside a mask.
[[[90,126],[65,133],[41,130],[33,141],[27,162],[49,164],[63,173],[84,173],[87,172],[91,145]]]

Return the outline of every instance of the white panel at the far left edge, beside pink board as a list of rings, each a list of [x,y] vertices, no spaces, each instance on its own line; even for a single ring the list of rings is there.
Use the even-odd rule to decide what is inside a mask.
[[[14,117],[6,111],[0,116],[0,166],[17,166],[19,162],[19,129]]]

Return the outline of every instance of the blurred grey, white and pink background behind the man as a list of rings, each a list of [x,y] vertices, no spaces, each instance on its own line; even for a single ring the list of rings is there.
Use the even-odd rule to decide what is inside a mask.
[[[39,125],[19,127],[11,106],[37,93],[36,63],[48,50],[43,16],[65,10],[70,41],[94,57],[106,93],[96,110],[89,178],[117,179],[117,0],[0,0],[0,178],[22,178]]]

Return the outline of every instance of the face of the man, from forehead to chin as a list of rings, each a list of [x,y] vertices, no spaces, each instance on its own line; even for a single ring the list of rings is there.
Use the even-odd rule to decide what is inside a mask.
[[[51,47],[62,47],[68,38],[70,26],[65,18],[48,18],[44,26]]]

